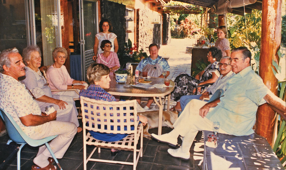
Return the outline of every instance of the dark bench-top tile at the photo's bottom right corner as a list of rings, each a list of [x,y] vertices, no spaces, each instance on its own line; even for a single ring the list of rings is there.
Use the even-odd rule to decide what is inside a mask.
[[[268,169],[285,169],[280,161],[269,161],[266,159],[245,158],[245,164],[249,167],[268,168]]]

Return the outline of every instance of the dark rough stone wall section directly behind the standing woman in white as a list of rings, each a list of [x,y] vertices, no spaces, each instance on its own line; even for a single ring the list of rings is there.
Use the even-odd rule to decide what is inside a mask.
[[[113,30],[112,32],[117,35],[117,41],[118,41],[118,52],[123,51],[124,43],[125,43],[125,37],[126,37],[126,19],[125,17],[125,10],[126,6],[123,4],[115,3],[112,1],[101,1],[101,13],[102,18],[107,18],[110,20]]]

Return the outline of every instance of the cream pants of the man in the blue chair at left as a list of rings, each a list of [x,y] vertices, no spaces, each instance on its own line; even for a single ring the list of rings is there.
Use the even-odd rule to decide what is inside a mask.
[[[55,157],[62,158],[67,148],[77,133],[77,127],[74,123],[63,121],[50,121],[37,126],[37,130],[31,135],[32,139],[43,139],[45,137],[58,135],[49,145],[55,154]],[[38,154],[43,153],[47,157],[52,157],[46,145],[39,147]]]

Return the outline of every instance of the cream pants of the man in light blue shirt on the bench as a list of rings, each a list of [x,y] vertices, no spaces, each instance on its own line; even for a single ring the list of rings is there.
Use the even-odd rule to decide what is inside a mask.
[[[194,138],[198,131],[212,131],[212,123],[206,117],[202,118],[200,108],[203,107],[207,102],[198,99],[192,99],[182,111],[177,121],[174,123],[174,129],[183,137],[182,149],[190,150]],[[214,109],[210,108],[209,111]],[[226,133],[223,129],[219,129],[219,133]]]

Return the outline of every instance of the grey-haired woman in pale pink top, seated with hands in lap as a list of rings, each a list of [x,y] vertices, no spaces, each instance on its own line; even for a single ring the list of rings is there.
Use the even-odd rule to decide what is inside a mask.
[[[84,81],[74,80],[69,76],[67,69],[63,65],[67,57],[67,50],[63,47],[57,47],[52,53],[55,61],[47,70],[47,79],[52,90],[77,89],[78,92],[84,89],[88,84]],[[75,91],[60,91],[52,92],[57,95],[68,95],[73,98],[78,98],[79,95]]]

